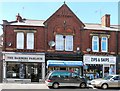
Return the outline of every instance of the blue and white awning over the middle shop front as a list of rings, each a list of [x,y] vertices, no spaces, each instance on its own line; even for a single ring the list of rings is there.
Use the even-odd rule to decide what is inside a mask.
[[[83,66],[82,61],[48,60],[47,66]]]

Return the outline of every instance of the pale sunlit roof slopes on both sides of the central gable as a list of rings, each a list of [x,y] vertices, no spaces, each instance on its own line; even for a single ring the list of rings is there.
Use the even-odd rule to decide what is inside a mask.
[[[23,19],[22,22],[12,21],[7,22],[8,25],[23,25],[23,26],[45,26],[45,20],[32,20],[32,19]],[[108,30],[108,31],[120,31],[120,25],[111,25],[110,27],[101,26],[97,23],[84,23],[86,30]]]

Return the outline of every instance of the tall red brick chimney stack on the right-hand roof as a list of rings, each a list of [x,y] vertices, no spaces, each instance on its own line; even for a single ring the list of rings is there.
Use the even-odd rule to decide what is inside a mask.
[[[110,27],[110,14],[105,14],[102,18],[101,18],[101,25],[103,27]]]

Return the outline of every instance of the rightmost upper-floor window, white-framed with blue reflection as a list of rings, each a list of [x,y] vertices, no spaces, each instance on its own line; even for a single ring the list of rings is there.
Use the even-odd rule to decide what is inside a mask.
[[[101,51],[107,52],[108,51],[107,49],[108,49],[108,38],[102,37],[101,38]]]

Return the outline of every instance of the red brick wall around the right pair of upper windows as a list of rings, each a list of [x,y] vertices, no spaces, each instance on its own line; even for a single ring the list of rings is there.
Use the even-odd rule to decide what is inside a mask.
[[[106,32],[106,34],[109,34],[110,37],[108,39],[108,53],[109,54],[115,54],[116,52],[116,32],[106,31],[106,30],[84,30],[82,31],[82,51],[84,53],[86,52],[87,48],[91,48],[92,50],[92,32],[101,33]],[[101,34],[99,34],[101,35]],[[101,49],[101,40],[99,39],[99,49]],[[91,52],[92,53],[92,52]],[[99,50],[99,53],[102,54],[101,50]],[[103,53],[104,54],[104,53]]]

